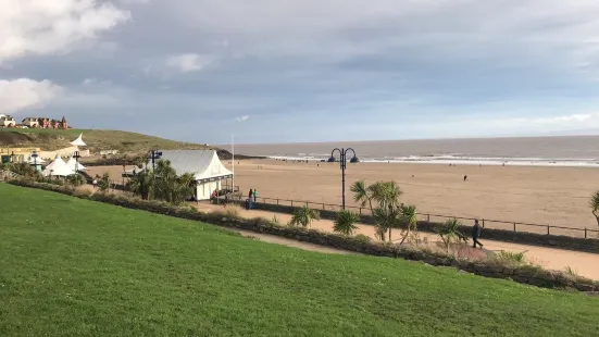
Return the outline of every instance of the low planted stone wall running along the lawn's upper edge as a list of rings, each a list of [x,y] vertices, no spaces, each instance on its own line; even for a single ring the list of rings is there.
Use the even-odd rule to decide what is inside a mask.
[[[364,239],[361,237],[350,237],[333,233],[323,233],[313,229],[275,225],[265,219],[232,219],[220,213],[200,213],[194,208],[175,207],[173,204],[161,201],[148,201],[114,195],[89,195],[85,192],[82,194],[77,192],[68,186],[55,186],[29,180],[11,180],[10,184],[46,189],[82,199],[110,203],[128,209],[143,210],[167,216],[175,216],[190,221],[200,221],[222,227],[239,228],[255,233],[270,234],[295,239],[298,241],[354,251],[369,255],[421,261],[435,266],[451,266],[456,267],[457,270],[473,273],[484,277],[512,279],[521,284],[527,284],[537,287],[551,289],[576,289],[589,294],[599,291],[599,282],[595,282],[576,275],[569,275],[563,272],[547,271],[533,265],[506,265],[498,264],[496,261],[473,262],[466,260],[457,260],[452,255],[440,252],[433,252],[426,249],[417,249],[408,246],[399,246],[385,242],[374,242],[370,239]]]

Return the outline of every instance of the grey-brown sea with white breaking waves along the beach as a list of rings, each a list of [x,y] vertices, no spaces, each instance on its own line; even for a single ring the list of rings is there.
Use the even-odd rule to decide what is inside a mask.
[[[229,146],[222,146],[229,149]],[[366,163],[599,167],[599,136],[424,139],[235,145],[235,152],[277,160],[323,161],[352,149]],[[353,152],[347,152],[347,160]],[[339,153],[335,152],[339,159]]]

